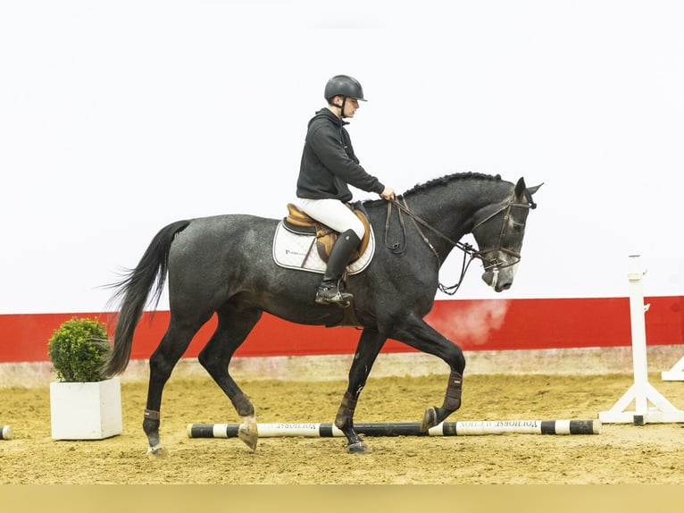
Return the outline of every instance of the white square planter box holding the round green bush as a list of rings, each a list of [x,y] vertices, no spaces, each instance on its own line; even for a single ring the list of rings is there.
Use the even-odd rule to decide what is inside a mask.
[[[121,434],[121,380],[50,383],[53,440],[102,440]]]

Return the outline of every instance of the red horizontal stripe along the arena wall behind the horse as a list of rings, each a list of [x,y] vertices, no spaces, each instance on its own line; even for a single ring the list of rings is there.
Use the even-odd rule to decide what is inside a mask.
[[[684,343],[684,296],[646,298],[648,345]],[[110,314],[0,315],[0,362],[48,361],[47,341],[73,316],[108,322]],[[427,321],[465,350],[562,349],[629,346],[628,298],[438,300]],[[138,325],[131,357],[150,357],[169,322],[169,312],[146,312]],[[186,351],[196,357],[215,328],[205,324]],[[110,330],[111,332],[111,330]],[[236,356],[350,354],[360,331],[291,324],[272,315],[250,333]],[[388,341],[385,352],[411,351]]]

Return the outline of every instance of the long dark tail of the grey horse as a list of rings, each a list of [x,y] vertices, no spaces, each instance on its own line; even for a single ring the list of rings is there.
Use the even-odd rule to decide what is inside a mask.
[[[120,374],[129,365],[133,334],[143,315],[147,297],[156,282],[152,297],[152,303],[156,307],[166,282],[171,242],[180,231],[188,228],[189,224],[189,221],[177,221],[165,226],[154,236],[138,266],[126,273],[121,282],[111,285],[115,291],[110,304],[123,299],[116,317],[113,349],[107,354],[102,366],[102,374],[105,377]]]

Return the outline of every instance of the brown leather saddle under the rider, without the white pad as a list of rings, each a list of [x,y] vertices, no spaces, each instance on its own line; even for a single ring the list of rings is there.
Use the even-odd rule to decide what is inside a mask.
[[[363,211],[363,206],[361,203],[355,203],[355,205],[350,205],[346,203],[352,212],[359,218],[363,223],[363,239],[359,242],[358,248],[355,249],[354,253],[349,260],[349,263],[353,263],[363,255],[363,251],[368,248],[369,240],[371,240],[371,225],[368,223],[368,217]],[[316,250],[318,255],[321,257],[323,262],[328,262],[328,257],[330,255],[330,250],[332,249],[335,241],[338,240],[338,231],[334,231],[329,226],[323,223],[319,223],[309,214],[302,212],[298,206],[288,203],[288,216],[283,219],[283,226],[292,231],[293,233],[298,233],[301,235],[315,235],[316,237]]]

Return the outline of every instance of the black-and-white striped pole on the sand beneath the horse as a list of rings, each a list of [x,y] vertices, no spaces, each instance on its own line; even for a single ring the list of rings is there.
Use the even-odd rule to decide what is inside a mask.
[[[367,436],[464,436],[481,434],[599,434],[600,420],[485,420],[443,422],[427,432],[420,422],[357,423],[356,433]],[[238,424],[188,424],[188,438],[235,438]],[[324,423],[259,424],[260,438],[345,436],[335,425]]]

